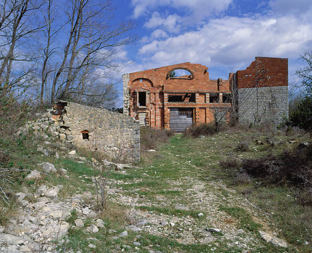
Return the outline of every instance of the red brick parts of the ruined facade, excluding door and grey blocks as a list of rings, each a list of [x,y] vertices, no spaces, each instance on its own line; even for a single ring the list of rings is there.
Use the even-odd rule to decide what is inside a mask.
[[[261,82],[269,86],[287,85],[287,63],[287,59],[256,57],[246,70],[230,74],[230,82],[210,80],[208,67],[190,62],[125,74],[129,75],[126,81],[124,77],[124,99],[128,99],[129,109],[125,111],[124,107],[124,113],[136,119],[144,117],[146,126],[158,129],[171,128],[171,108],[192,111],[193,123],[213,122],[216,108],[224,110],[232,105],[226,99],[231,97],[231,77],[236,76],[236,85],[243,88],[260,69],[268,68],[265,82]],[[190,75],[171,78],[171,72],[177,69],[187,70]]]

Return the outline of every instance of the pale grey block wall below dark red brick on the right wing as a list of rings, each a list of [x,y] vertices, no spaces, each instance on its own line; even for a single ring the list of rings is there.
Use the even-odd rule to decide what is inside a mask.
[[[288,117],[288,86],[238,89],[240,122],[275,122]]]

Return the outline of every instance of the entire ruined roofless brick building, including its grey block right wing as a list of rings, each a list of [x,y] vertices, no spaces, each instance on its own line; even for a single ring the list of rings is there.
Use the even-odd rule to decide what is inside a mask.
[[[175,76],[180,70],[187,75]],[[288,59],[256,57],[249,67],[210,80],[190,62],[123,75],[124,114],[140,125],[182,131],[213,121],[279,122],[288,115]]]

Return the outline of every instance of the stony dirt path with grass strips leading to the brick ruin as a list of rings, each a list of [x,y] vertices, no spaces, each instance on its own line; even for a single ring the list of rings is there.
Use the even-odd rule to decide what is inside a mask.
[[[165,238],[161,252],[292,252],[260,237],[259,230],[273,236],[278,231],[272,231],[266,213],[213,170],[217,150],[201,153],[191,143],[175,141],[150,164],[120,171],[111,180],[112,200],[128,207],[129,229],[151,245],[150,235]]]

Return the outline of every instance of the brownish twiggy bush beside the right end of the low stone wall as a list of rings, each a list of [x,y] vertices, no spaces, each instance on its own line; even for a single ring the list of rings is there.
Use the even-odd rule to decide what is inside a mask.
[[[141,150],[157,149],[160,143],[165,143],[175,134],[173,130],[140,127]]]

